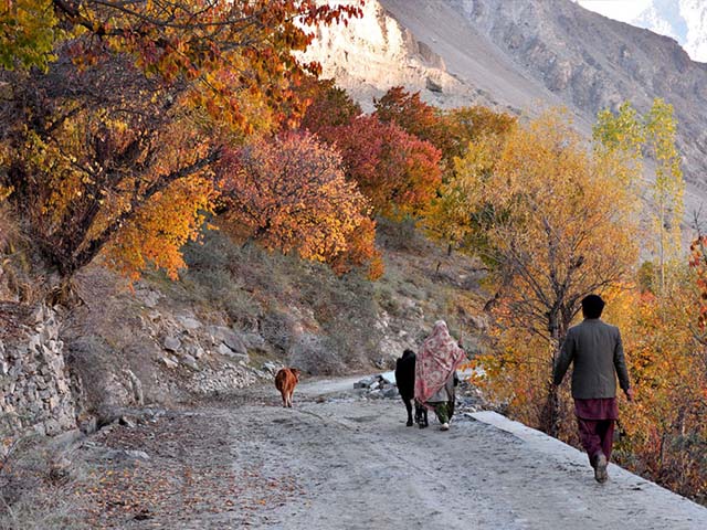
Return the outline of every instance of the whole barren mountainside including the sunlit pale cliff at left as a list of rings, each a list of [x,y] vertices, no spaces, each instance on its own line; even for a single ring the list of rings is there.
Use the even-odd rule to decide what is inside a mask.
[[[629,99],[646,110],[662,97],[679,121],[687,216],[707,193],[707,64],[673,39],[571,0],[370,0],[366,11],[347,29],[324,30],[309,52],[325,74],[358,87],[358,97],[366,98],[361,86],[403,84],[442,105],[487,103],[528,114],[563,105],[585,134],[603,108]],[[447,81],[431,95],[424,88],[432,71]]]

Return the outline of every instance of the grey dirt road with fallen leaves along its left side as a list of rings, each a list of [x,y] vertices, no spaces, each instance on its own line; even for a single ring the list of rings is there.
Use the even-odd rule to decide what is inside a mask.
[[[143,468],[148,476],[171,465],[171,478],[160,484],[175,492],[143,508],[144,517],[126,517],[135,509],[126,501],[115,518],[102,516],[102,524],[172,530],[707,528],[707,509],[614,466],[612,480],[599,485],[579,452],[500,416],[458,417],[446,433],[436,422],[423,431],[405,427],[398,401],[341,393],[352,382],[305,383],[292,410],[278,406],[274,389],[262,389],[223,406],[173,413],[167,422],[169,433],[178,427],[173,441],[167,431],[135,431],[122,446],[150,455]],[[134,481],[125,488],[135,488]]]

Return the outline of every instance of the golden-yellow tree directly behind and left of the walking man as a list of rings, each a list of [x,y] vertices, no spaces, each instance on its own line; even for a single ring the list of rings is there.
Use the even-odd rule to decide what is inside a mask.
[[[634,265],[633,199],[611,159],[588,153],[558,114],[518,127],[500,149],[482,140],[456,170],[475,219],[469,242],[483,241],[467,251],[499,289],[503,347],[492,365],[517,384],[514,399],[547,405],[525,418],[557,434],[552,365],[581,299],[620,285]]]

